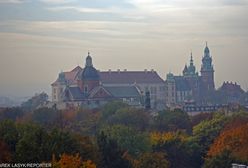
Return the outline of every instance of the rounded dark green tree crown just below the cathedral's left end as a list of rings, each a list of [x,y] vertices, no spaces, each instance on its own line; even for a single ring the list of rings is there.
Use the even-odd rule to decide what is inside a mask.
[[[161,111],[154,119],[154,129],[157,131],[177,131],[185,130],[191,133],[191,123],[189,116],[182,110]]]

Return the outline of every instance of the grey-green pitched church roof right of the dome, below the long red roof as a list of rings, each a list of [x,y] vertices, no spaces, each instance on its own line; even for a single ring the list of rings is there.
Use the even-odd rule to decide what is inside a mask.
[[[116,98],[139,97],[139,91],[135,86],[104,86],[104,88]]]

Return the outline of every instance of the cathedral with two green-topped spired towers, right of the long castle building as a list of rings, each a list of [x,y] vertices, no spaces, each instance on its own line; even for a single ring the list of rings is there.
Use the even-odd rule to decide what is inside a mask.
[[[196,72],[192,52],[189,65],[185,65],[182,75],[172,73],[166,77],[166,105],[175,107],[187,103],[194,105],[211,104],[215,93],[212,56],[206,43],[202,57],[200,75]]]

